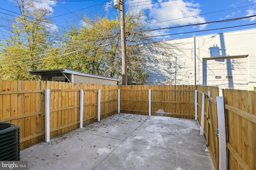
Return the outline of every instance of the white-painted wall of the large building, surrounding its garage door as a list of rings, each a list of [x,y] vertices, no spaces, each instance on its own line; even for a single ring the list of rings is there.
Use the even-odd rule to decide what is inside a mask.
[[[256,29],[196,36],[195,42],[197,85],[203,85],[203,59],[222,57],[218,61],[225,64],[225,57],[248,55],[247,70],[242,70],[247,81],[242,86],[248,90],[256,86]],[[176,84],[195,84],[194,37],[163,41],[161,47],[146,44],[140,53],[146,53],[145,84],[175,84],[175,73]],[[236,67],[230,66],[232,73]]]

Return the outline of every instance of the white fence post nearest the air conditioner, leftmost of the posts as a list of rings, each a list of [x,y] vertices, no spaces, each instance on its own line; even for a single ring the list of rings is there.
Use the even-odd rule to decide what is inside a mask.
[[[44,141],[50,141],[50,89],[45,89],[44,96]]]

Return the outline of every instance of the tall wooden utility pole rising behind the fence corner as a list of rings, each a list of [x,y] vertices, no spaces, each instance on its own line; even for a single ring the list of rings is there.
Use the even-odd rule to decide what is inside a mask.
[[[119,5],[117,5],[119,3]],[[124,21],[124,0],[114,0],[114,8],[120,9],[121,22],[121,48],[122,48],[122,85],[127,85],[127,61],[126,61],[126,38],[125,38],[125,21]]]

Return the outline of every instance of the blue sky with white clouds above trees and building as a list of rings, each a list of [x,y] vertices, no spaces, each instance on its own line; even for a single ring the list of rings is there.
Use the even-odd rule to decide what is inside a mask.
[[[84,14],[91,19],[98,15],[108,16],[108,18],[116,18],[118,15],[118,10],[113,7],[113,0],[39,0],[36,6],[44,6],[52,11],[49,18],[52,18],[54,25],[51,27],[54,30],[68,27],[72,21],[76,21],[77,25],[83,24],[81,16]],[[155,41],[192,37],[193,32],[198,36],[256,27],[256,25],[248,25],[256,23],[256,17],[253,17],[221,23],[160,29],[253,16],[256,15],[256,0],[125,0],[126,10],[128,7],[134,11],[144,11],[150,18],[150,29],[159,29],[154,31]],[[10,17],[10,14],[17,16],[10,11],[18,12],[14,0],[0,0],[0,17]],[[3,25],[2,19],[0,19],[0,25]],[[248,26],[236,27],[240,25]],[[206,31],[208,29],[216,30]],[[1,39],[6,30],[0,27],[0,31]]]

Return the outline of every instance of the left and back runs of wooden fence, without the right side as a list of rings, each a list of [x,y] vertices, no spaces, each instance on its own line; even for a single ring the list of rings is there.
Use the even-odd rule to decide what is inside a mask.
[[[120,111],[194,119],[194,86],[0,80],[0,121],[20,126],[20,149]]]

